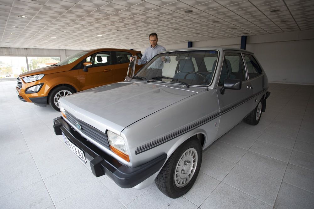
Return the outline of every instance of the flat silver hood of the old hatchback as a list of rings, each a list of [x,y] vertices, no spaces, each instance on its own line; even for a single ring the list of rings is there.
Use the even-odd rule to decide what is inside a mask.
[[[63,97],[59,103],[97,129],[121,133],[134,122],[197,93],[181,85],[121,82]]]

